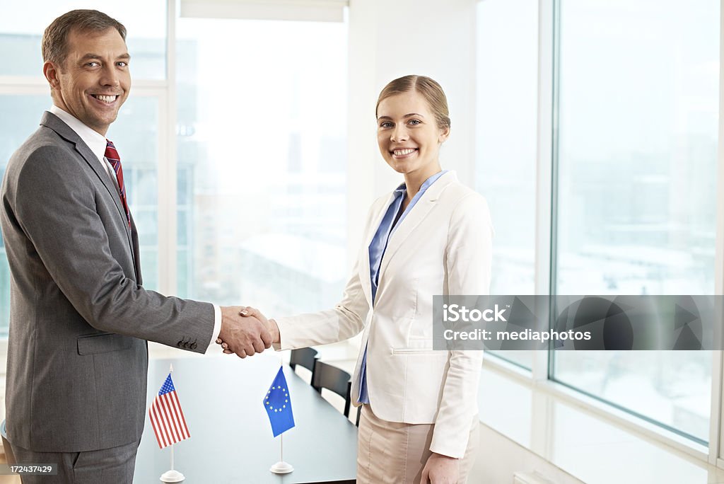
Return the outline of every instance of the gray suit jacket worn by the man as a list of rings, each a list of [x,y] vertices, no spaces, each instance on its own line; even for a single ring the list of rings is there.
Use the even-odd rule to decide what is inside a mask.
[[[9,441],[49,452],[138,441],[146,340],[203,353],[213,306],[141,286],[138,235],[118,189],[54,114],[13,154],[1,197]]]

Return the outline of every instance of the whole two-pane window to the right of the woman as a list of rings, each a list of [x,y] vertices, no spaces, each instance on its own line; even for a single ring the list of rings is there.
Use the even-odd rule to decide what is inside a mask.
[[[549,278],[562,295],[714,293],[720,2],[482,0],[477,30],[492,293],[533,293]],[[536,240],[541,170],[552,175],[550,267],[535,260],[549,243]],[[531,352],[493,353],[533,366]],[[709,440],[710,352],[547,356],[534,378]]]

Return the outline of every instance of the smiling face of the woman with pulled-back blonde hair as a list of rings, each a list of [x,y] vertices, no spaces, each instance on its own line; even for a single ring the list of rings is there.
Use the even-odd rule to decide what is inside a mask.
[[[379,151],[393,170],[424,181],[439,172],[440,145],[450,132],[440,129],[417,91],[395,94],[377,107]]]

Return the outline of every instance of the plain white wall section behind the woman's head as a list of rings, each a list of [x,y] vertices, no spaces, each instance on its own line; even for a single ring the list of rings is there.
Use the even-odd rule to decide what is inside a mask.
[[[379,91],[403,75],[442,85],[452,119],[440,162],[473,184],[475,152],[475,0],[350,0],[348,254],[353,262],[369,205],[402,181],[377,149]],[[355,222],[357,221],[357,222]]]

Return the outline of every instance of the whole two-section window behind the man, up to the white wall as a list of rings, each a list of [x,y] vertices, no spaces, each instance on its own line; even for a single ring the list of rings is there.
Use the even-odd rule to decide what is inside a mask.
[[[0,66],[0,111],[12,113],[0,118],[0,175],[51,106],[43,29],[74,8],[87,6],[36,2],[0,17],[0,53],[12,61]],[[128,29],[133,88],[108,136],[122,157],[145,287],[274,314],[332,305],[348,269],[346,23],[172,20],[171,105],[167,1],[93,8]],[[174,222],[175,236],[159,231]],[[9,270],[0,251],[2,335]]]

